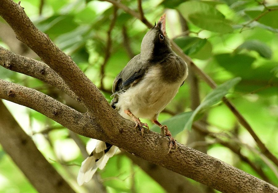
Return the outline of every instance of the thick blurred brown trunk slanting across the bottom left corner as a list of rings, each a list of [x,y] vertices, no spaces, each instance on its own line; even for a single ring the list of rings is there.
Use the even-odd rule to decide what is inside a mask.
[[[39,192],[74,192],[0,100],[0,143]]]

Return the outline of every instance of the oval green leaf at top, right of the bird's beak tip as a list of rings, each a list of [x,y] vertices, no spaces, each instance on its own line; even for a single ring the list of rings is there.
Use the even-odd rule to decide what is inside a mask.
[[[198,27],[208,31],[228,33],[233,31],[230,22],[223,18],[217,18],[207,13],[194,13],[189,15],[189,20]]]

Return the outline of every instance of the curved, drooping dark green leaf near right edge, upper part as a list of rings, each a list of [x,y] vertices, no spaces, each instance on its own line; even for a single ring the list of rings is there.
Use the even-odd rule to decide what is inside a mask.
[[[246,50],[254,50],[259,53],[264,58],[270,59],[272,56],[272,50],[268,47],[265,43],[260,42],[258,40],[247,40],[246,42],[242,43],[238,46],[234,53],[238,53],[239,51],[246,49]]]

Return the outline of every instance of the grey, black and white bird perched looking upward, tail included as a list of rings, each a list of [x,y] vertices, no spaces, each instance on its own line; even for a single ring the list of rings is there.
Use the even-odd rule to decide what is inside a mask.
[[[163,14],[142,39],[140,54],[134,56],[116,76],[110,105],[122,117],[135,122],[141,138],[149,126],[139,118],[150,119],[158,125],[162,136],[169,137],[169,153],[173,146],[177,148],[177,144],[168,127],[157,119],[159,113],[175,97],[187,75],[186,62],[171,48],[166,34],[166,14]],[[118,148],[96,140],[93,149],[82,162],[77,178],[79,185],[89,182],[97,168],[103,169]]]

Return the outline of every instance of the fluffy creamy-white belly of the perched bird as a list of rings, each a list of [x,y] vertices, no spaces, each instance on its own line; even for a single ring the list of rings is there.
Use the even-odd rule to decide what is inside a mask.
[[[138,118],[156,119],[158,114],[175,97],[183,80],[176,83],[166,83],[159,76],[157,67],[152,68],[144,80],[119,94],[116,107],[126,119],[132,120],[124,113],[129,109]]]

